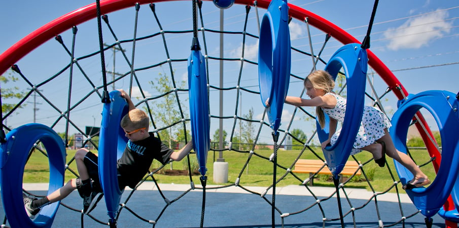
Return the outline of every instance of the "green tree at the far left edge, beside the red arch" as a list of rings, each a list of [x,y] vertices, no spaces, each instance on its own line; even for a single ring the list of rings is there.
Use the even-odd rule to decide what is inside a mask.
[[[11,88],[5,88],[5,84],[10,83],[10,82],[16,82],[18,80],[19,80],[18,78],[12,75],[11,71],[8,72],[8,75],[6,76],[5,75],[0,76],[0,84],[2,85],[2,88],[1,88],[2,112],[4,114],[11,111],[16,106],[15,103],[6,103],[5,102],[6,99],[12,99],[12,98],[22,99],[25,96],[25,92],[20,92],[19,87],[17,86],[14,86]],[[19,108],[22,108],[23,106],[25,106],[25,104],[20,105]]]

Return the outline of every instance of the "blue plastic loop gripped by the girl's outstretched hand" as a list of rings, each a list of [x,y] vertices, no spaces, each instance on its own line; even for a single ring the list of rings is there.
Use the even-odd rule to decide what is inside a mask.
[[[289,90],[291,45],[287,0],[273,0],[263,16],[258,49],[258,81],[263,106],[274,132],[279,129]]]

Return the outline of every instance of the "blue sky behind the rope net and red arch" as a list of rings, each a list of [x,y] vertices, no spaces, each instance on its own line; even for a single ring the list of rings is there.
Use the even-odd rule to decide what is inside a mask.
[[[84,7],[95,1],[3,1],[0,4],[0,31],[2,33],[2,39],[0,42],[0,53],[3,53],[10,46],[18,42],[22,37],[32,32],[33,30],[41,27],[42,25],[48,23],[49,21],[64,15],[70,11],[76,10],[80,7]],[[366,34],[368,23],[371,16],[371,11],[373,8],[372,1],[305,1],[305,0],[292,0],[289,1],[290,4],[297,5],[308,11],[311,11],[330,22],[336,24],[337,26],[343,28],[351,35],[355,36],[357,40],[362,41],[364,35]],[[160,20],[163,20],[163,25],[167,28],[165,29],[192,29],[191,20],[191,10],[189,9],[191,3],[180,1],[179,3],[163,3],[157,4],[158,14]],[[218,29],[218,15],[219,10],[211,2],[204,2],[205,16],[214,17],[214,19],[207,19],[206,27],[211,29]],[[142,10],[146,10],[147,6],[142,6]],[[172,10],[174,9],[174,10]],[[149,9],[148,9],[149,10]],[[262,17],[264,11],[260,10],[260,17]],[[127,18],[125,15],[129,15]],[[140,15],[143,17],[143,15]],[[256,32],[256,22],[254,10],[249,15],[251,22],[248,25],[254,34]],[[405,86],[409,93],[419,93],[426,90],[447,90],[453,93],[459,91],[459,2],[457,1],[380,1],[378,9],[376,12],[373,28],[371,31],[371,47],[370,50],[378,56],[384,64],[394,71],[396,77],[400,82]],[[237,27],[240,30],[240,25],[243,23],[244,12],[241,10],[240,6],[233,6],[228,10],[225,10],[225,30],[232,30],[233,27]],[[109,20],[113,24],[124,25],[128,24],[128,21],[133,20],[132,11],[127,14],[122,13],[113,13],[109,15]],[[145,20],[143,20],[145,21]],[[147,22],[142,22],[147,23]],[[151,30],[140,30],[143,24],[139,24],[139,31],[137,36],[143,34],[148,34],[152,32]],[[92,22],[85,23],[84,25],[79,26],[79,33],[91,31],[94,33],[96,30],[95,20]],[[153,30],[152,26],[152,30]],[[91,30],[92,29],[92,30]],[[303,22],[294,20],[290,24],[291,30],[291,39],[292,45],[303,47],[306,51],[309,51],[308,47],[308,38],[307,38],[307,29]],[[120,33],[125,35],[125,37],[119,37],[120,40],[129,39],[132,37],[132,30],[126,33]],[[62,34],[65,39],[65,43],[68,47],[71,45],[72,36],[70,32]],[[108,35],[105,41],[108,43],[113,42]],[[191,36],[190,34],[186,35],[175,35],[168,36],[170,42],[174,42],[174,45],[170,47],[171,55],[179,56],[179,53],[185,53],[183,56],[185,58],[189,55],[189,47],[191,45]],[[217,42],[217,36],[208,35],[206,39],[209,43]],[[91,40],[92,39],[92,40]],[[314,46],[314,49],[320,48],[320,41],[323,40],[322,34],[319,31],[311,31],[311,39]],[[201,40],[202,41],[202,40]],[[176,42],[176,43],[175,43]],[[55,59],[57,53],[62,52],[62,49],[58,49],[56,42],[50,42],[50,44],[45,44],[39,49],[33,51],[29,57],[20,60],[19,64],[21,70],[27,72],[29,77],[39,77],[44,65],[45,68],[51,70],[51,72],[56,72],[58,69],[59,63],[62,61],[62,64],[68,62],[68,59],[61,60]],[[161,42],[153,42],[156,45]],[[81,46],[85,46],[82,48]],[[176,45],[175,45],[176,44]],[[157,53],[156,49],[150,49],[151,43],[143,44],[142,42],[138,43],[138,49],[136,53],[139,53],[139,56],[150,56],[153,62],[156,62],[156,55],[152,53]],[[322,58],[328,60],[331,54],[336,51],[341,46],[340,43],[336,41],[331,41],[328,44]],[[89,53],[87,50],[97,50],[98,43],[94,38],[85,37],[84,39],[78,40],[77,43],[78,52]],[[129,50],[129,48],[127,47]],[[248,39],[245,46],[245,58],[257,60],[257,50],[258,43],[255,39]],[[228,39],[225,41],[225,57],[236,58],[240,55],[241,51],[241,41]],[[317,51],[317,50],[316,50]],[[142,53],[145,52],[145,53]],[[218,50],[209,49],[209,55],[218,56]],[[128,51],[129,53],[129,51]],[[158,54],[159,56],[160,54]],[[54,58],[54,59],[53,59]],[[105,55],[105,62],[107,63],[108,70],[112,69],[113,56],[110,54]],[[117,70],[118,72],[126,72],[126,66],[121,64],[122,56],[117,54]],[[50,64],[50,60],[53,59]],[[142,66],[148,64],[150,60],[144,58],[137,58],[135,60],[136,66]],[[158,60],[159,61],[159,60]],[[305,77],[305,74],[309,71],[310,68],[302,68],[301,61],[307,61],[301,58],[293,57],[292,65],[299,65],[292,67],[292,73],[302,75]],[[310,60],[309,60],[310,62]],[[308,63],[309,63],[308,62]],[[299,64],[300,63],[300,64]],[[93,74],[100,74],[100,65],[97,65],[94,62],[82,62],[88,70]],[[150,63],[151,64],[151,63]],[[53,67],[56,65],[56,68]],[[214,66],[214,65],[213,65]],[[98,68],[97,68],[98,67]],[[119,68],[118,68],[119,67]],[[210,67],[210,66],[209,66]],[[235,80],[237,79],[237,74],[239,71],[237,63],[229,63],[225,65],[225,84],[229,86],[234,86]],[[258,91],[258,76],[256,75],[255,66],[247,66],[249,72],[252,70],[253,77],[244,78],[241,82],[244,87],[250,88],[252,90]],[[158,72],[168,72],[167,68],[158,69],[153,72],[155,75]],[[176,75],[180,75],[182,80],[186,80],[186,66],[177,64],[174,66]],[[371,71],[370,71],[371,72]],[[228,78],[226,78],[228,75]],[[97,77],[100,77],[98,75]],[[235,78],[236,77],[236,78]],[[212,78],[214,80],[214,78]],[[100,83],[100,79],[95,80]],[[216,81],[213,81],[214,83]],[[62,88],[48,88],[47,90],[56,90],[62,92],[65,95],[67,81],[62,80]],[[301,83],[292,82],[294,85],[291,85],[289,89],[289,95],[299,95],[301,90]],[[384,91],[386,85],[382,81],[378,81],[377,77],[375,79],[375,88],[379,93]],[[121,84],[121,85],[120,85]],[[218,84],[217,84],[218,85]],[[24,85],[22,85],[24,86]],[[126,82],[120,82],[117,84],[116,88],[125,88],[127,89],[128,84]],[[44,87],[43,89],[45,89]],[[157,95],[154,91],[151,91],[151,86],[145,85],[144,87],[147,95]],[[135,88],[134,88],[135,89]],[[46,90],[46,89],[45,89]],[[75,89],[78,90],[78,87]],[[135,90],[133,90],[135,94]],[[217,95],[217,93],[214,93]],[[60,95],[56,95],[60,96]],[[66,95],[65,95],[66,96]],[[65,96],[62,96],[62,102],[65,102]],[[229,95],[232,97],[233,95]],[[76,95],[75,97],[78,97]],[[229,99],[228,96],[225,99]],[[43,101],[38,101],[43,103]],[[211,101],[211,105],[214,104],[214,101]],[[394,96],[388,95],[384,99],[384,106],[386,110],[395,110],[396,102]],[[226,102],[225,102],[226,103]],[[78,123],[82,126],[91,126],[94,123],[98,125],[100,123],[100,110],[101,105],[96,99],[92,99],[85,104],[89,108],[81,109],[80,112],[77,112]],[[24,108],[24,112],[20,115],[11,117],[8,121],[8,125],[19,126],[25,123],[30,123],[32,119],[32,104],[28,104]],[[234,115],[234,106],[235,100],[228,101],[228,105],[225,105],[225,110],[228,111],[228,115]],[[261,118],[263,112],[263,107],[261,106],[261,101],[259,96],[254,95],[245,95],[242,94],[242,113],[245,113],[246,110],[254,108],[255,116]],[[56,119],[56,113],[48,113],[46,105],[39,105],[39,113],[37,114],[37,122],[43,123],[45,125],[50,125],[53,123],[52,120]],[[215,110],[215,109],[214,109]],[[231,114],[232,110],[232,114]],[[283,118],[289,120],[293,114],[293,107],[285,106],[283,112]],[[211,111],[212,112],[212,111]],[[213,115],[218,115],[218,112],[213,112]],[[76,118],[76,117],[75,117]],[[428,119],[429,125],[432,127],[435,123],[432,122],[432,117],[429,115],[426,116]],[[295,123],[298,124],[301,128],[305,129],[305,132],[311,131],[311,125],[300,124],[303,121],[300,117],[296,118]],[[288,122],[283,122],[284,126]],[[232,122],[225,122],[225,126],[228,125],[228,128],[232,127]],[[215,129],[218,128],[218,124],[211,123],[210,132],[213,133]],[[63,125],[59,124],[55,128],[56,131],[63,131]],[[227,130],[228,131],[228,130]],[[262,133],[260,136],[260,141],[270,142],[271,136],[270,133]]]

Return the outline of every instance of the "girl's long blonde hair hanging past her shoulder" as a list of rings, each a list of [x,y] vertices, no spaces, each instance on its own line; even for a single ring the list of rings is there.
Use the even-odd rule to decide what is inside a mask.
[[[315,89],[322,89],[325,93],[333,93],[333,88],[335,88],[335,81],[332,78],[332,75],[325,70],[315,70],[310,73],[306,79],[304,79],[304,85],[309,81],[312,84],[312,87]],[[319,119],[319,124],[321,128],[324,129],[325,126],[325,115],[321,107],[315,107],[315,115]]]

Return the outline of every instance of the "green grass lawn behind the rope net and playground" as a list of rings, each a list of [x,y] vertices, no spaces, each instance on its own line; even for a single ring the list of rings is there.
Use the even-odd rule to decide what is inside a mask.
[[[314,148],[316,151],[316,148]],[[277,163],[285,168],[290,168],[292,162],[298,157],[300,154],[300,150],[278,150],[277,153]],[[273,170],[273,163],[267,161],[264,158],[269,158],[269,156],[273,153],[272,150],[256,150],[256,155],[252,155],[250,158],[250,162],[248,165],[245,166],[245,169],[242,170],[246,162],[248,161],[250,154],[249,153],[238,153],[235,151],[224,151],[223,158],[225,162],[228,162],[228,183],[234,183],[236,178],[240,176],[239,184],[242,186],[269,186],[272,184],[272,170]],[[75,150],[67,150],[67,163],[70,159],[72,159],[75,155]],[[215,153],[215,156],[218,157],[219,153]],[[258,155],[258,156],[257,156]],[[419,163],[424,163],[429,160],[429,154],[427,150],[411,150],[411,155],[413,156],[415,161]],[[319,156],[323,156],[322,153],[319,153]],[[264,157],[264,158],[262,158]],[[314,154],[310,151],[305,151],[301,157],[301,159],[317,159]],[[365,163],[369,159],[371,159],[371,154],[363,151],[355,156],[355,158]],[[387,157],[388,158],[388,157]],[[196,155],[191,154],[190,159],[192,159],[192,167],[193,163],[196,164]],[[350,158],[351,159],[351,158]],[[207,173],[206,176],[208,177],[207,184],[213,185],[224,185],[222,183],[215,183],[213,182],[213,161],[214,161],[214,152],[209,151],[208,154],[208,162],[207,162]],[[398,176],[396,170],[394,168],[394,163],[392,159],[387,160],[389,162],[389,167],[392,174],[395,176],[394,178],[398,180]],[[172,167],[174,170],[184,170],[186,168],[186,159],[181,162],[173,162]],[[196,167],[196,165],[194,165]],[[152,170],[156,167],[159,167],[159,162],[154,162],[152,165]],[[76,173],[78,173],[75,161],[69,164],[69,169],[72,169]],[[164,169],[170,169],[170,165],[166,165]],[[394,180],[391,177],[391,172],[386,168],[379,168],[374,161],[368,162],[363,166],[364,172],[367,176],[371,179],[371,187],[375,189],[377,192],[385,191],[391,184],[394,183]],[[428,164],[424,167],[421,167],[421,170],[425,172],[431,181],[435,179],[435,171],[431,164]],[[286,173],[286,170],[280,167],[277,167],[277,178],[280,178]],[[300,185],[302,181],[309,177],[309,174],[296,174],[299,179],[294,177],[293,175],[287,175],[283,180],[279,181],[276,186],[287,186],[287,185]],[[199,181],[200,174],[193,175],[192,179],[197,186],[200,186]],[[75,178],[75,175],[70,172],[69,170],[65,171],[65,182],[71,178]],[[171,176],[171,175],[164,175],[157,173],[154,175],[154,178],[159,183],[175,183],[175,184],[189,184],[190,178],[188,175],[186,176]],[[40,182],[49,182],[49,164],[48,159],[44,156],[40,151],[35,150],[30,157],[29,161],[25,166],[24,183],[40,183]],[[333,181],[330,181],[330,176],[328,175],[320,175],[314,179],[314,186],[330,186],[333,187]],[[361,187],[366,188],[367,190],[371,191],[371,187],[368,182],[365,180],[364,175],[360,177],[352,178],[348,183],[345,185],[346,187]],[[390,192],[395,192],[395,189],[391,189]]]

